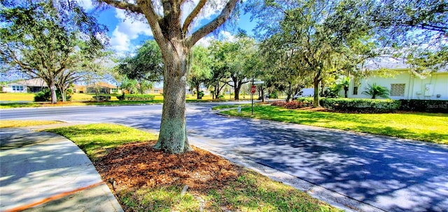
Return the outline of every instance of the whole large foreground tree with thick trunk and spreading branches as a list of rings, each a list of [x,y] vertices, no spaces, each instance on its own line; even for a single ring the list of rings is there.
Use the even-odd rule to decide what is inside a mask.
[[[200,0],[186,15],[186,0],[129,1],[99,0],[130,13],[144,15],[151,26],[155,41],[162,51],[164,63],[164,104],[160,134],[155,148],[167,153],[183,153],[191,150],[186,134],[186,83],[191,48],[211,31],[221,26],[232,14],[239,0],[228,0],[213,20],[195,29],[194,20],[206,6],[217,2]],[[222,2],[222,1],[218,1]],[[159,4],[156,4],[159,3]],[[186,17],[183,20],[182,17]],[[194,31],[193,31],[194,30]]]

